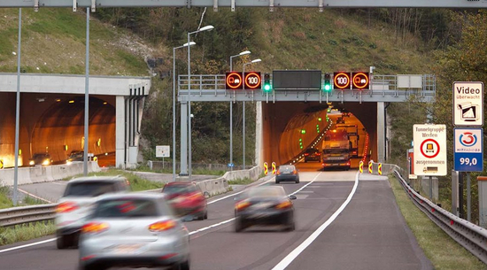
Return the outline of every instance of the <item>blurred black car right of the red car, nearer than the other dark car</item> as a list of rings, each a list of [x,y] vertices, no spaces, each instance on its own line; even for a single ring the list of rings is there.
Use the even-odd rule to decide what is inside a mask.
[[[238,233],[254,225],[283,225],[286,230],[294,230],[292,199],[296,196],[288,197],[280,186],[248,189],[235,206],[235,231]]]

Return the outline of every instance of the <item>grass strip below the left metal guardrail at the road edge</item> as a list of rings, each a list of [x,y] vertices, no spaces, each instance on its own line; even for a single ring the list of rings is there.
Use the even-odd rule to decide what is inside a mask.
[[[0,228],[0,245],[18,243],[52,235],[56,231],[54,221],[35,222],[14,227]]]

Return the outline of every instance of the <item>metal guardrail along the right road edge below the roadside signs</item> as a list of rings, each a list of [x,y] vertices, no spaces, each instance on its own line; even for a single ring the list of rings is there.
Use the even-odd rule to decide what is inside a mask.
[[[487,230],[468,222],[468,220],[460,219],[451,212],[437,206],[437,204],[433,204],[427,198],[421,197],[407,184],[399,173],[400,170],[401,168],[395,166],[394,174],[414,204],[453,240],[487,264]]]

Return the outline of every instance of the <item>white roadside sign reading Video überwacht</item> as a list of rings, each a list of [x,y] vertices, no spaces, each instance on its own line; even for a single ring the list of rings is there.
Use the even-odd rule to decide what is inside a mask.
[[[453,82],[453,125],[483,126],[483,82]]]

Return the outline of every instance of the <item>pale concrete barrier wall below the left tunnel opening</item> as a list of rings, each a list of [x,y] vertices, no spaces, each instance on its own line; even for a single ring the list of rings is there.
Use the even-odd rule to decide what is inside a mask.
[[[95,161],[88,163],[88,171],[100,172],[100,167]],[[33,166],[20,167],[18,169],[18,184],[32,184],[43,181],[56,181],[66,177],[71,177],[83,173],[83,163],[76,162],[71,165],[53,165],[53,166]],[[13,186],[13,169],[0,170],[0,186]]]

